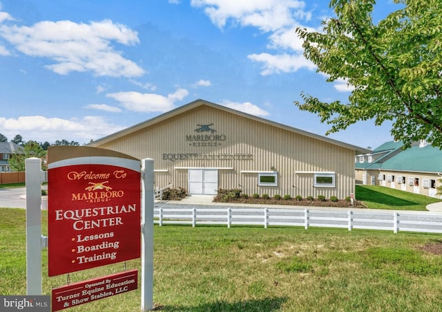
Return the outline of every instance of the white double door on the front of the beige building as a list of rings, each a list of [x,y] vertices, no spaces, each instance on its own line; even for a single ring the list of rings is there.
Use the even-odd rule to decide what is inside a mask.
[[[189,169],[189,194],[218,193],[218,169]]]

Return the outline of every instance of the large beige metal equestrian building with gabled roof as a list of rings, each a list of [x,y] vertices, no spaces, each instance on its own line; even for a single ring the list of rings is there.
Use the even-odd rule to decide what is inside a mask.
[[[355,154],[370,152],[204,100],[89,146],[153,158],[159,188],[171,184],[189,194],[241,188],[249,195],[339,199],[354,192]]]

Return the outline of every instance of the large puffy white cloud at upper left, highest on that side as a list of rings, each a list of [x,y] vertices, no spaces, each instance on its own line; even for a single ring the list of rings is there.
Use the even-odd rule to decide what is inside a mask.
[[[115,51],[112,42],[139,43],[137,33],[110,20],[77,24],[73,21],[41,21],[31,27],[0,27],[0,36],[23,54],[46,57],[55,64],[46,68],[66,75],[90,71],[97,76],[137,77],[144,70]]]

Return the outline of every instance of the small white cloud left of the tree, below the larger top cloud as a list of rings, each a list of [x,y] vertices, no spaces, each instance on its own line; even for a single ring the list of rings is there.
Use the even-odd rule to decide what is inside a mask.
[[[289,55],[287,53],[280,55],[271,55],[269,53],[248,55],[253,62],[262,63],[261,75],[270,75],[273,73],[290,73],[298,71],[300,68],[313,70],[316,66],[305,59],[301,54]]]

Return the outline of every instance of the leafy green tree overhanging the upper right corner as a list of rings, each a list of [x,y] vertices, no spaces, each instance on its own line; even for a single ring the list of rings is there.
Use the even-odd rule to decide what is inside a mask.
[[[374,24],[376,1],[332,0],[336,18],[323,21],[323,33],[297,28],[327,82],[344,79],[354,89],[348,103],[302,92],[295,104],[331,125],[327,134],[358,120],[392,120],[392,136],[407,147],[421,139],[442,147],[442,1],[394,3],[399,9]]]

